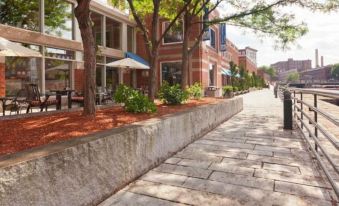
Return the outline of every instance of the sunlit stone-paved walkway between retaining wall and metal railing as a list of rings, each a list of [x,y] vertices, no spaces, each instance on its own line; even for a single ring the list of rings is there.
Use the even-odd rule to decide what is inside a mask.
[[[329,183],[296,132],[283,131],[269,90],[100,206],[335,205]]]

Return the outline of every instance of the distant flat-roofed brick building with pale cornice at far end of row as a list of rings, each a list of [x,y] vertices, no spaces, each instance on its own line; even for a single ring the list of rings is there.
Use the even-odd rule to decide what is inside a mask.
[[[257,52],[251,47],[240,49],[239,67],[243,67],[249,73],[257,73]]]

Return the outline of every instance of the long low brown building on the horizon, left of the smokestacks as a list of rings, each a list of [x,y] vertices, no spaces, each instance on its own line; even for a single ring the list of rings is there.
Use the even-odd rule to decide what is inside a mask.
[[[302,72],[312,68],[312,60],[294,60],[289,58],[287,61],[280,61],[271,64],[271,67],[277,71],[278,75],[279,73],[289,70],[297,70],[298,72]]]

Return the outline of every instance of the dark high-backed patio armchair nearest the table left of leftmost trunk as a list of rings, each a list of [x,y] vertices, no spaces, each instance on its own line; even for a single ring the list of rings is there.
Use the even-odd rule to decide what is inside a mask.
[[[57,105],[58,101],[55,100],[50,100],[49,97],[50,95],[46,94],[45,98],[41,100],[41,95],[39,91],[39,87],[36,84],[26,84],[26,92],[27,92],[27,97],[26,97],[26,102],[28,103],[28,107],[26,110],[26,113],[29,113],[29,110],[31,110],[34,107],[40,108],[40,111],[42,112],[44,109],[47,111],[48,106],[51,105]]]

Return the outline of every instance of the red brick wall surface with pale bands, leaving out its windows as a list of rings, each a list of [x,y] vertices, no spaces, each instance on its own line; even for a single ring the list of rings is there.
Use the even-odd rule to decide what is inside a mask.
[[[213,15],[219,15],[215,12]],[[160,23],[159,32],[163,32],[163,23]],[[200,32],[201,25],[196,24],[192,28],[192,32],[190,35],[190,45],[193,45],[194,40],[196,39],[196,35]],[[211,26],[211,29],[215,31],[215,48],[207,45],[206,42],[202,42],[200,46],[193,52],[192,57],[189,60],[189,68],[188,68],[188,82],[189,84],[194,84],[195,82],[200,82],[204,89],[207,89],[209,85],[209,68],[210,65],[215,65],[214,71],[214,85],[217,88],[221,89],[223,84],[227,81],[224,80],[223,75],[221,73],[221,69],[229,68],[229,61],[233,60],[237,62],[238,53],[236,47],[233,45],[233,48],[229,48],[230,54],[227,56],[227,52],[220,52],[220,33],[219,33],[219,25]],[[144,45],[144,41],[140,33],[137,35],[137,42],[139,43],[137,46],[137,54],[146,60],[148,60],[146,49]],[[142,43],[141,43],[142,42]],[[228,44],[228,43],[227,43]],[[162,43],[159,48],[159,61],[157,63],[158,70],[158,86],[161,85],[162,81],[162,64],[168,62],[181,62],[182,60],[182,44],[181,43],[171,43],[164,44]],[[137,86],[145,87],[148,84],[148,77],[146,75],[141,75],[141,71],[138,72],[137,75]],[[146,85],[145,85],[146,83]],[[221,94],[221,93],[220,93]]]

